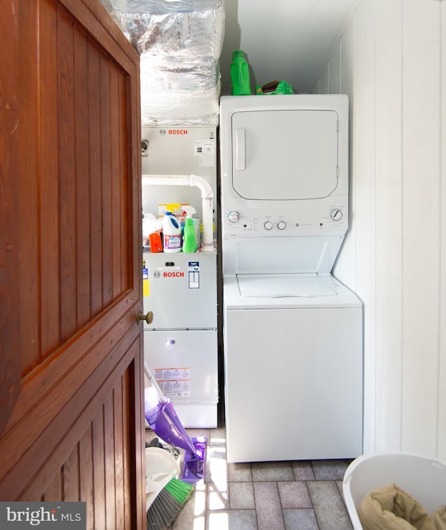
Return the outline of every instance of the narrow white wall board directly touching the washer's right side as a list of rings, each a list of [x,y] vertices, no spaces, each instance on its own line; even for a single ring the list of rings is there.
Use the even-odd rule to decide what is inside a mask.
[[[376,159],[375,153],[375,5],[364,0],[356,10],[353,175],[356,224],[356,285],[364,315],[364,451],[371,449],[376,387]],[[361,234],[361,235],[360,235]],[[360,237],[358,237],[360,235]],[[369,421],[367,421],[367,419]]]

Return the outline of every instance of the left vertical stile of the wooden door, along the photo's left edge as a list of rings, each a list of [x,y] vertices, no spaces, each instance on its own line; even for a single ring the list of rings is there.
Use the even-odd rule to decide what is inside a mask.
[[[17,216],[17,210],[20,213],[26,211],[19,205],[21,189],[17,179],[17,174],[22,171],[19,162],[22,148],[19,134],[21,102],[20,93],[17,93],[22,72],[17,8],[18,0],[3,4],[1,20],[4,27],[0,31],[0,435],[5,431],[20,396],[22,363],[15,352],[20,350],[22,342],[26,343],[21,336],[20,325],[15,324],[22,303],[20,247],[15,244],[20,239],[20,225],[18,221],[10,222]]]

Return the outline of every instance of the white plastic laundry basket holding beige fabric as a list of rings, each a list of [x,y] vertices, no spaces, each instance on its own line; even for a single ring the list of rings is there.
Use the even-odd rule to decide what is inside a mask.
[[[387,484],[396,484],[432,514],[446,504],[446,465],[410,453],[362,455],[348,466],[342,489],[354,530],[363,530],[357,515],[362,497]]]

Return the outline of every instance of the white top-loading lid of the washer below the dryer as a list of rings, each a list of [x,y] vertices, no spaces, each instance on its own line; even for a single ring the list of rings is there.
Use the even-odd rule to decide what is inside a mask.
[[[240,295],[284,298],[333,296],[337,292],[317,274],[238,274]]]

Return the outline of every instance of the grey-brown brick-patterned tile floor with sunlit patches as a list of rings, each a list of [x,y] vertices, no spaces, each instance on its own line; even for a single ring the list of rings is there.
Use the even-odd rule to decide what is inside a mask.
[[[352,529],[342,499],[351,460],[228,464],[224,428],[187,432],[208,438],[206,481],[169,530]]]

